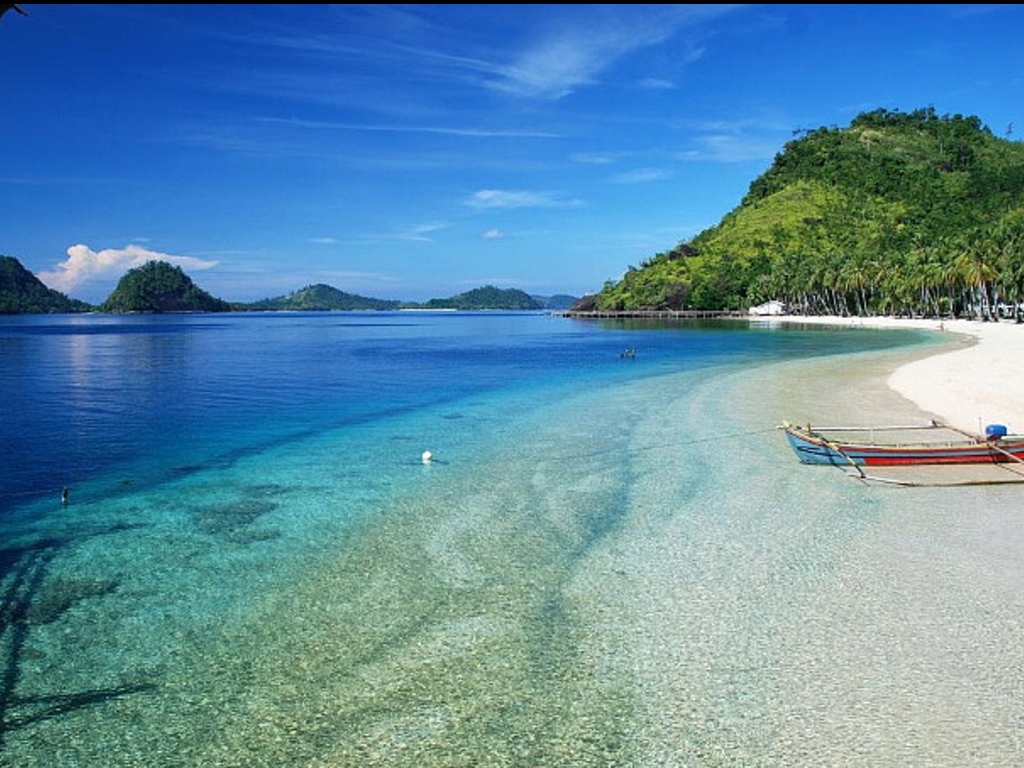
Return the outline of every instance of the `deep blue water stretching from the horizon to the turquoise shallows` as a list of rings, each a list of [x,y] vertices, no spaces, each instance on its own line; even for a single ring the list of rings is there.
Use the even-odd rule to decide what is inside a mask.
[[[480,392],[604,387],[894,338],[522,312],[0,317],[0,510]]]

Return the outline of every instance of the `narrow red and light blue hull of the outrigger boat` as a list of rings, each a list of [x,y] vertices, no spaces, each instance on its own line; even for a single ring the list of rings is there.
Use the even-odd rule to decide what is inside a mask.
[[[957,444],[874,445],[831,441],[790,427],[785,428],[785,436],[797,458],[804,464],[904,466],[1024,463],[1024,438]]]

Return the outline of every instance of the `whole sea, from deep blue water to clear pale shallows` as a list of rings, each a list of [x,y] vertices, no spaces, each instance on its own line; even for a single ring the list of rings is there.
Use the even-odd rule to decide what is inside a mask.
[[[777,429],[942,343],[2,316],[0,766],[1021,765],[1019,487]]]

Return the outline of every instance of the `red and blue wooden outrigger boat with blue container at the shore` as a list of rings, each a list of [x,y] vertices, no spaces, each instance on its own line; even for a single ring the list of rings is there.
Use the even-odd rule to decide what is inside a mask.
[[[804,464],[1024,464],[1024,435],[1008,434],[1001,424],[990,424],[983,436],[935,421],[919,426],[813,429],[783,423],[780,429]]]

